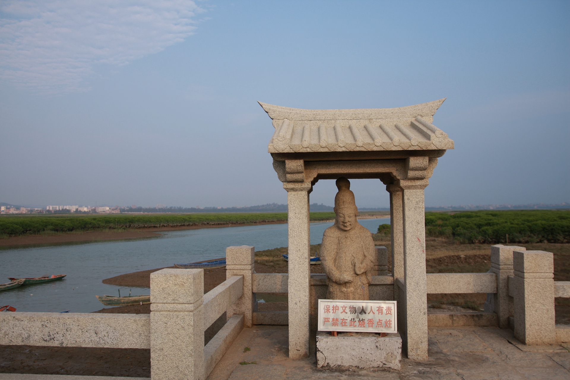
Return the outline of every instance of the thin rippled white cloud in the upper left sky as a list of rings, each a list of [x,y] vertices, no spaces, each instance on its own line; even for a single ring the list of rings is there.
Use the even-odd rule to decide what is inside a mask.
[[[88,89],[94,64],[182,42],[203,9],[189,0],[5,0],[0,12],[0,79],[61,93]]]

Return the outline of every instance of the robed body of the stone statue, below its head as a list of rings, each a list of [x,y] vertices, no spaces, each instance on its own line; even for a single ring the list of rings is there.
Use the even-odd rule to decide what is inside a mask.
[[[334,226],[323,234],[320,258],[327,273],[329,300],[369,300],[368,285],[376,263],[372,234],[356,222],[349,231]],[[340,275],[348,275],[352,283],[340,284]]]

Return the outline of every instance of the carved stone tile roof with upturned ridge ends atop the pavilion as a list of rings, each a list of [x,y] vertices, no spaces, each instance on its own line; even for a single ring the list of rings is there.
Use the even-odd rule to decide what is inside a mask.
[[[299,109],[261,103],[273,120],[269,153],[453,149],[431,124],[444,99],[399,108]]]

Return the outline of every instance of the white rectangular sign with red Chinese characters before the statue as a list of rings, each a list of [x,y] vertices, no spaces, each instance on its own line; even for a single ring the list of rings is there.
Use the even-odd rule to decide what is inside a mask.
[[[319,300],[318,330],[395,333],[396,301]]]

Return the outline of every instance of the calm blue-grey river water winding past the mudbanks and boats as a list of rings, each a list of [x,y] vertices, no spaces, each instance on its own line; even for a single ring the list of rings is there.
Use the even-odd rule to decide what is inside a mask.
[[[389,218],[361,219],[376,232]],[[332,222],[311,223],[311,244],[321,243]],[[287,246],[287,224],[201,228],[161,232],[160,237],[95,243],[66,243],[0,250],[0,283],[7,277],[66,274],[52,283],[24,285],[0,292],[0,306],[19,312],[89,313],[103,308],[95,295],[149,294],[148,288],[121,288],[101,280],[124,273],[169,267],[174,263],[222,258],[229,246],[254,246],[256,251]],[[1,280],[4,279],[5,281]]]

